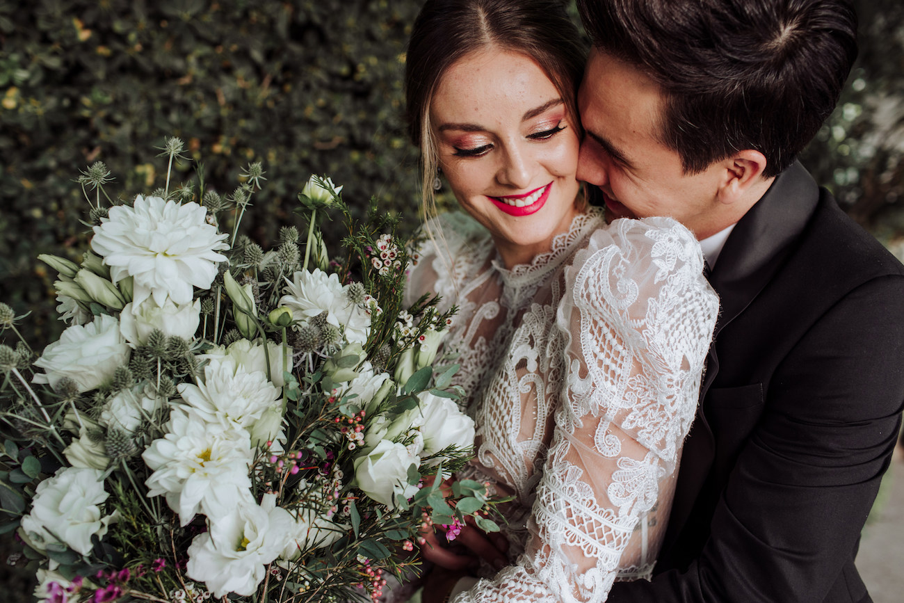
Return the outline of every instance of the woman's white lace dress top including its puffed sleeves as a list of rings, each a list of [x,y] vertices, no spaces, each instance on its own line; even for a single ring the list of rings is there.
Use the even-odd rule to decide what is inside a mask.
[[[409,301],[459,307],[446,341],[477,427],[466,473],[514,496],[513,565],[455,603],[603,601],[648,577],[718,312],[699,244],[667,218],[589,212],[508,270],[465,215],[432,230]]]

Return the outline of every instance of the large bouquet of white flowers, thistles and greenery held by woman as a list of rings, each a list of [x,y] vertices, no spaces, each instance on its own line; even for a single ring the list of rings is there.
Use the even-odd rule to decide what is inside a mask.
[[[181,151],[167,140],[170,167]],[[81,174],[90,249],[40,257],[69,326],[40,356],[0,344],[0,531],[23,542],[36,596],[376,600],[431,523],[498,529],[485,485],[440,488],[474,424],[437,357],[452,312],[402,306],[394,224],[373,203],[355,224],[315,176],[306,227],[265,251],[237,235],[259,164],[227,196],[201,169],[169,179],[122,201],[104,165]],[[342,258],[327,212],[348,228]],[[0,303],[6,334],[23,318]]]

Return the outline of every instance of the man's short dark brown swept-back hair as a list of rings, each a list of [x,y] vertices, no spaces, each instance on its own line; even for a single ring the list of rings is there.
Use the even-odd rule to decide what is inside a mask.
[[[736,151],[791,165],[832,113],[857,56],[846,0],[578,0],[598,50],[660,86],[659,136],[701,172]]]

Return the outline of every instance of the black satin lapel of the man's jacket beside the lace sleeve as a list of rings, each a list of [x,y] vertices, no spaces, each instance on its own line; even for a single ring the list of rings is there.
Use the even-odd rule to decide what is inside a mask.
[[[719,294],[720,313],[707,355],[701,403],[691,435],[684,442],[672,514],[663,543],[666,555],[691,516],[716,454],[715,438],[706,420],[706,393],[719,374],[718,351],[731,353],[730,349],[720,346],[720,331],[739,316],[775,276],[815,212],[818,199],[819,188],[813,178],[795,162],[777,176],[763,198],[738,221],[711,272],[710,283]]]

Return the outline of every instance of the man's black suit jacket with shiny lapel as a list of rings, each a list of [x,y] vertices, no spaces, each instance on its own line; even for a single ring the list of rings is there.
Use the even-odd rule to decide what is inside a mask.
[[[795,164],[738,222],[654,579],[609,601],[870,601],[854,568],[904,400],[904,267]]]

